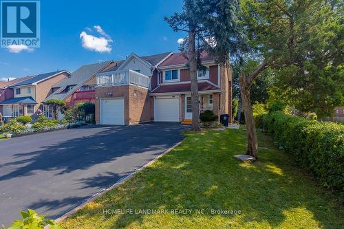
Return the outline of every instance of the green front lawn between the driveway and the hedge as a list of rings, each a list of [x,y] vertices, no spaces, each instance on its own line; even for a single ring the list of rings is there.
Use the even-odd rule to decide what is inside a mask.
[[[339,197],[316,186],[258,133],[259,161],[240,163],[246,132],[186,133],[184,142],[61,223],[66,228],[344,228]],[[115,212],[106,214],[104,210]],[[135,214],[142,209],[164,209]],[[173,214],[174,209],[193,212]],[[202,213],[195,209],[205,209]],[[226,214],[214,210],[240,210]],[[132,210],[134,214],[125,214]]]

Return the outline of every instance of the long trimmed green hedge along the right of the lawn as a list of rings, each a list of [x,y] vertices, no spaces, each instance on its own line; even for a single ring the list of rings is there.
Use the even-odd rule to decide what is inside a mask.
[[[344,190],[344,126],[317,122],[275,111],[257,117],[265,129],[297,164],[326,188]]]

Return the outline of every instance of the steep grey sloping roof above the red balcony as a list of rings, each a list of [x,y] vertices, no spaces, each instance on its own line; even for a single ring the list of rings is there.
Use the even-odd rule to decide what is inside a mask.
[[[69,95],[73,94],[76,90],[78,90],[84,83],[87,82],[92,76],[96,75],[98,72],[103,70],[113,61],[105,61],[101,63],[94,63],[90,65],[83,65],[76,69],[75,72],[72,73],[71,76],[61,80],[59,83],[56,83],[52,87],[59,87],[53,94],[47,96],[45,101],[51,98],[65,100]],[[76,85],[73,89],[63,93],[67,86]]]

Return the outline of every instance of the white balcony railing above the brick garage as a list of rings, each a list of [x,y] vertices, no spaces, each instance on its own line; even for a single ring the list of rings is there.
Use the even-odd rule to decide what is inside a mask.
[[[98,87],[129,84],[149,87],[149,77],[133,70],[103,72],[97,74],[96,78]]]

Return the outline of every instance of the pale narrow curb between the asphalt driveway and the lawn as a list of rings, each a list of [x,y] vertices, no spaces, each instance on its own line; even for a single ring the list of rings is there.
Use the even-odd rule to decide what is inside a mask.
[[[163,155],[165,155],[166,153],[169,153],[171,150],[175,149],[175,147],[179,146],[180,144],[182,144],[182,142],[178,142],[176,144],[174,144],[173,146],[171,146],[171,148],[166,149],[166,151],[164,151],[163,153],[161,153],[160,155],[158,155],[157,157],[155,157],[153,160],[151,160],[150,162],[148,162],[147,164],[144,164],[144,166],[141,166],[140,168],[138,168],[136,171],[133,171],[132,173],[130,173],[129,175],[127,175],[126,177],[123,177],[122,179],[119,179],[118,182],[116,182],[115,184],[111,185],[109,188],[106,188],[104,190],[101,190],[99,193],[96,193],[95,195],[93,195],[92,197],[90,197],[89,199],[86,199],[85,201],[83,201],[82,204],[80,204],[79,206],[76,206],[75,208],[73,208],[72,210],[69,210],[68,212],[66,212],[64,215],[62,215],[61,217],[58,217],[57,219],[55,219],[54,221],[56,223],[63,221],[64,219],[66,219],[67,217],[69,217],[69,215],[72,215],[73,213],[75,213],[77,210],[83,208],[86,204],[88,204],[91,201],[94,201],[94,199],[97,199],[98,197],[101,197],[102,195],[104,195],[105,193],[107,193],[109,190],[112,190],[114,188],[116,188],[117,186],[120,186],[120,184],[123,184],[124,182],[126,182],[128,179],[130,179],[131,177],[133,177],[133,175],[135,175],[136,173],[138,173],[139,171],[142,171],[144,168],[146,168],[147,166],[150,166],[151,164],[153,164],[155,161],[157,161],[160,157],[162,157]],[[45,227],[47,228],[47,227]]]

